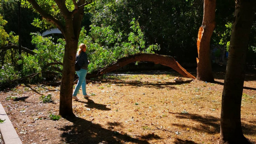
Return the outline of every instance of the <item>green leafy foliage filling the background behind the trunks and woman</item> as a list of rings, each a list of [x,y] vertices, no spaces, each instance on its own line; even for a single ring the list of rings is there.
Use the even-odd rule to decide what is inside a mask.
[[[52,0],[38,1],[49,13],[63,23],[58,6]],[[65,39],[60,35],[45,37],[41,33],[54,25],[33,12],[26,0],[21,0],[22,46],[36,52],[0,50],[0,86],[8,87],[15,79],[37,74],[25,82],[41,83],[60,80]],[[74,9],[67,0],[69,10]],[[18,44],[18,4],[15,0],[0,0],[0,47]],[[180,62],[195,62],[196,38],[203,20],[203,2],[197,0],[95,0],[85,8],[79,43],[87,45],[88,71],[103,68],[117,59],[135,53],[158,53],[174,56]],[[234,13],[234,1],[216,5],[216,27],[212,45],[228,51]],[[248,64],[255,65],[256,23],[253,23],[247,53]],[[21,71],[18,71],[21,68]],[[49,77],[50,76],[50,77]],[[49,79],[50,78],[50,79]]]

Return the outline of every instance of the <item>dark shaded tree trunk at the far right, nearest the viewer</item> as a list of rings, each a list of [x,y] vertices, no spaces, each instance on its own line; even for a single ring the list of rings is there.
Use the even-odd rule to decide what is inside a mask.
[[[241,126],[241,100],[244,85],[248,39],[255,12],[255,0],[236,0],[229,46],[228,65],[221,103],[220,144],[247,144]]]

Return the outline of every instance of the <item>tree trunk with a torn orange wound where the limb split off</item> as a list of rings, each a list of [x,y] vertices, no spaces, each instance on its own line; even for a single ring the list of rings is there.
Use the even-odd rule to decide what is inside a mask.
[[[197,76],[201,81],[214,81],[210,57],[210,41],[215,28],[216,0],[204,0],[203,24],[199,28],[197,38]]]

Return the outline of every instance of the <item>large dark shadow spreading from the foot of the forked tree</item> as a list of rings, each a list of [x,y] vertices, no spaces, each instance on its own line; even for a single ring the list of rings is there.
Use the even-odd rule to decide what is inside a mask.
[[[124,132],[116,132],[111,129],[105,129],[100,124],[93,124],[90,121],[76,117],[69,119],[73,125],[66,125],[60,128],[63,133],[63,141],[69,144],[122,144],[127,142],[137,144],[149,144],[147,140],[132,138]]]

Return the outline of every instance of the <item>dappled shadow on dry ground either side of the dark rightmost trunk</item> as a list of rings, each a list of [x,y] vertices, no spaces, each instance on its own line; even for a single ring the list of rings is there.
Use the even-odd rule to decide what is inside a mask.
[[[174,113],[172,113],[174,114]],[[189,127],[198,132],[208,133],[208,134],[216,134],[220,133],[220,118],[214,116],[200,116],[197,114],[175,114],[177,118],[180,119],[190,119],[193,121],[198,122],[197,125],[186,125],[186,124],[172,124],[179,127]],[[243,133],[247,135],[254,135],[256,131],[255,125],[252,124],[245,124],[242,122],[242,129]]]

